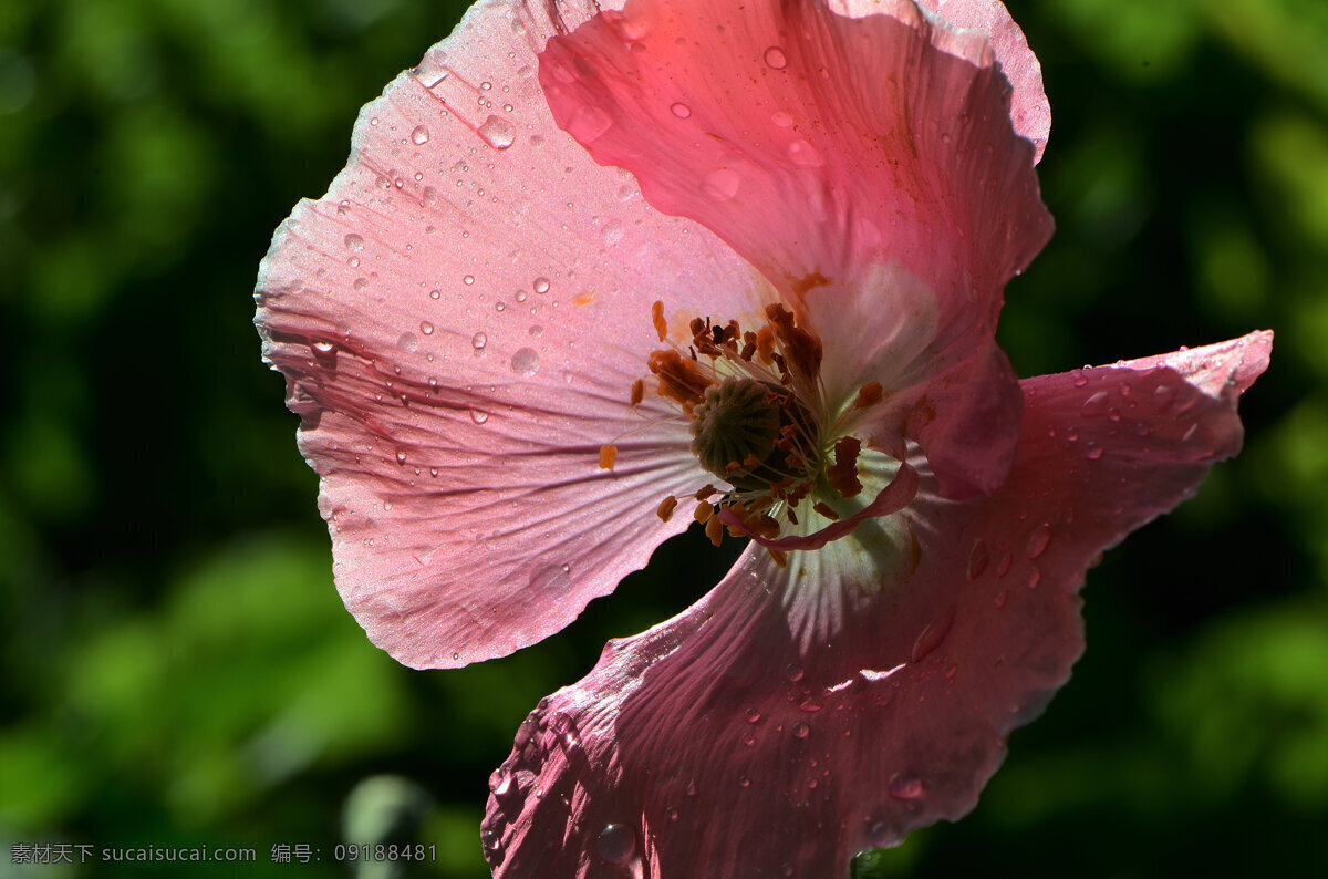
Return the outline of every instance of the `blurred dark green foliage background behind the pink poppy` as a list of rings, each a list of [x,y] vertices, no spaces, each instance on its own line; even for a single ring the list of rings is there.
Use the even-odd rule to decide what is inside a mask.
[[[436,846],[406,875],[485,876],[525,713],[726,570],[667,544],[568,633],[432,673],[332,588],[250,292],[359,106],[461,8],[0,3],[0,875],[345,876],[337,842],[400,838]],[[1089,576],[1088,655],[977,810],[876,874],[1328,875],[1328,4],[1012,8],[1058,222],[1008,289],[1020,373],[1278,349],[1244,454]],[[9,863],[36,842],[258,862]]]

